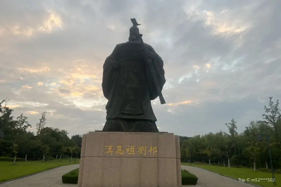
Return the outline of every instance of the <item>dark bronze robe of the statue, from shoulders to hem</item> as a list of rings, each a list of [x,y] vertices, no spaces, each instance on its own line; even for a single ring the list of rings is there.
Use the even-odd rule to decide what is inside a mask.
[[[157,121],[151,100],[158,93],[148,65],[141,53],[142,44],[129,41],[116,45],[103,65],[102,91],[108,99],[106,120],[131,119]],[[165,84],[163,60],[154,49],[145,44],[145,48],[154,54],[152,59],[157,81],[162,90]],[[113,64],[120,63],[117,70]]]

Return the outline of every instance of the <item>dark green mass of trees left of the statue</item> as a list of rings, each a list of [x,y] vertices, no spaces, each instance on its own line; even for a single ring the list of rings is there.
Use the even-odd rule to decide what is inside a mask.
[[[7,102],[8,99],[0,102],[0,129],[5,132],[5,136],[0,137],[0,156],[45,161],[47,156],[62,155],[62,147],[76,147],[78,142],[81,143],[81,135],[70,139],[64,129],[45,127],[46,112],[36,125],[37,133],[27,132],[31,127],[27,117],[20,114],[14,120],[13,110],[7,107]],[[73,149],[66,152],[72,155],[79,152]]]

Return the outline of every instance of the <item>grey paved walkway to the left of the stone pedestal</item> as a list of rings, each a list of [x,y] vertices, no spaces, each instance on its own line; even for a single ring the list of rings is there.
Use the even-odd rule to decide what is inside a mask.
[[[78,167],[79,164],[62,166],[53,170],[1,184],[0,187],[76,187],[76,184],[63,184],[62,175]]]

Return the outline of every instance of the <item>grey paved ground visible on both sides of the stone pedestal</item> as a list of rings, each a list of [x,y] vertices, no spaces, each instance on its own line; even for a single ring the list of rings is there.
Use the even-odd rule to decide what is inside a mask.
[[[62,175],[78,167],[78,164],[62,166],[36,175],[3,183],[0,187],[76,187],[76,184],[63,184]],[[197,185],[183,185],[183,187],[253,187],[253,185],[242,183],[200,168],[182,165],[181,169],[185,169],[198,177]]]

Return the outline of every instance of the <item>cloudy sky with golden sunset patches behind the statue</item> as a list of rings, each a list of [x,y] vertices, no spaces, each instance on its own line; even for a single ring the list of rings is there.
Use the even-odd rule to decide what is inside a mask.
[[[280,0],[1,0],[0,99],[69,135],[102,130],[102,66],[136,18],[164,61],[159,131],[242,132],[281,98]]]

